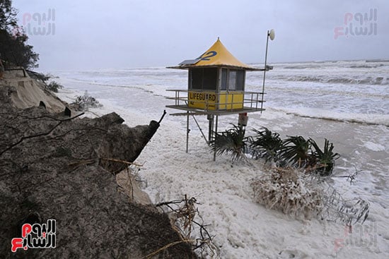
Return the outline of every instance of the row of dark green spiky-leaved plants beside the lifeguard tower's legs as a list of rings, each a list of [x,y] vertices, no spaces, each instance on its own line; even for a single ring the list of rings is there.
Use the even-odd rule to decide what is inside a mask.
[[[210,145],[216,155],[231,154],[233,161],[245,157],[250,150],[255,159],[275,162],[278,167],[306,168],[318,172],[320,176],[332,174],[335,159],[339,158],[339,154],[333,152],[334,145],[327,139],[321,150],[315,140],[305,139],[301,135],[288,135],[281,140],[278,133],[272,133],[265,127],[254,132],[257,134],[247,138],[243,127],[233,125],[233,128],[222,133],[214,132]]]

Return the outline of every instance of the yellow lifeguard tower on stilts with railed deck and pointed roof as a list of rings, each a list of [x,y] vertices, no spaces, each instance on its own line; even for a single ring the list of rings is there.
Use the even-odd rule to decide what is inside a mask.
[[[269,32],[268,32],[269,36]],[[255,68],[238,61],[221,41],[216,42],[197,59],[182,61],[178,66],[168,68],[187,69],[187,90],[168,90],[175,92],[174,105],[168,108],[180,109],[186,112],[170,114],[173,116],[187,116],[187,148],[189,138],[190,116],[207,115],[209,120],[208,140],[199,127],[204,139],[209,143],[212,132],[217,132],[218,118],[221,115],[240,114],[238,124],[247,124],[248,112],[262,112],[264,101],[264,87],[262,92],[245,91],[246,71],[268,71],[270,66]],[[265,75],[264,75],[265,76]],[[265,80],[264,80],[265,82]],[[265,83],[264,85],[265,86]],[[214,123],[216,121],[216,123]]]

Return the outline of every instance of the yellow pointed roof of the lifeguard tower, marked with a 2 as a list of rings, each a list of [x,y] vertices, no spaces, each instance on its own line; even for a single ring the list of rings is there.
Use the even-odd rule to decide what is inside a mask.
[[[238,59],[236,59],[236,57],[233,56],[231,52],[228,52],[228,49],[224,47],[224,45],[219,40],[219,37],[216,42],[197,59],[185,60],[178,64],[178,66],[173,66],[169,68],[187,69],[206,66],[226,66],[231,68],[241,68],[250,71],[262,70],[259,68],[248,66],[238,61]]]

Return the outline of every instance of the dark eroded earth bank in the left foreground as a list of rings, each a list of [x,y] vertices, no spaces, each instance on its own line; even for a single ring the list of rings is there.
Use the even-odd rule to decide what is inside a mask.
[[[0,80],[0,254],[2,258],[144,258],[180,241],[167,215],[129,202],[115,175],[128,167],[159,124],[129,128],[115,113],[69,118],[20,109],[18,85]],[[37,105],[36,105],[37,106]],[[118,174],[119,175],[119,174]],[[11,252],[21,224],[56,220],[55,248]],[[178,243],[152,258],[195,258]]]

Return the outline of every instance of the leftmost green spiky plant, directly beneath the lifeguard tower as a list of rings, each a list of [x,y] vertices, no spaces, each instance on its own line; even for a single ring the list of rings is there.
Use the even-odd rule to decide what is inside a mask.
[[[243,127],[233,125],[233,128],[222,133],[214,132],[214,138],[209,145],[216,155],[231,154],[232,160],[236,161],[245,157],[247,140]]]

